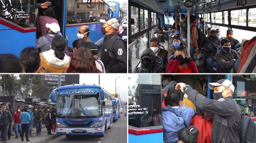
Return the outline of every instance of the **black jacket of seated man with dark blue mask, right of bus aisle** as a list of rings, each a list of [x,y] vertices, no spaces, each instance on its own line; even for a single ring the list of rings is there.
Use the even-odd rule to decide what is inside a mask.
[[[218,63],[218,72],[219,73],[230,73],[233,65],[235,63],[234,58],[238,58],[238,54],[235,50],[231,49],[231,52],[226,53],[224,50],[220,50],[216,53],[216,61]],[[222,62],[224,59],[226,62]]]

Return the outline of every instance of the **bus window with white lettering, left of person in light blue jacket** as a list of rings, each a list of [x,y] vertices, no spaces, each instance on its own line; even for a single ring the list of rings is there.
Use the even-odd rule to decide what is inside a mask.
[[[128,124],[143,128],[162,125],[160,75],[133,74],[129,77]],[[157,117],[154,117],[158,114]],[[161,115],[161,116],[159,116]],[[160,122],[161,121],[161,122]]]

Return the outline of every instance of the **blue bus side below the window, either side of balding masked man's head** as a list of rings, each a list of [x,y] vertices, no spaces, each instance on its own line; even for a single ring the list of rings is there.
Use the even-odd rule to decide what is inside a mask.
[[[97,23],[97,24],[88,24],[87,26],[89,26],[90,28],[90,35],[89,38],[91,39],[91,41],[93,43],[97,42],[98,40],[100,40],[104,35],[101,32],[101,26],[102,23]],[[74,40],[78,39],[77,38],[77,29],[80,26],[73,26],[73,27],[68,27],[66,28],[66,34],[67,34],[67,38],[68,38],[68,45],[72,46],[72,43],[74,42]],[[104,40],[104,39],[103,39]]]

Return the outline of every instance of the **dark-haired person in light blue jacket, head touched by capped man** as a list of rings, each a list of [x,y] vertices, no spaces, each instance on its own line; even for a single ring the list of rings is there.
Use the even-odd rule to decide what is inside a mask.
[[[175,143],[179,130],[189,126],[195,111],[184,106],[184,93],[181,90],[176,91],[174,87],[168,89],[165,105],[162,112],[163,141]]]

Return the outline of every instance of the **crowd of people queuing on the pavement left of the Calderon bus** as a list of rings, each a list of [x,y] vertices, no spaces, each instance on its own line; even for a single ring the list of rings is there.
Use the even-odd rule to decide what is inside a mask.
[[[33,126],[36,124],[36,136],[41,136],[42,123],[45,123],[47,134],[53,135],[56,132],[56,110],[50,107],[38,107],[34,110],[34,106],[21,107],[18,105],[12,110],[8,104],[0,107],[0,140],[7,143],[13,134],[13,126],[15,129],[15,138],[21,138],[24,141],[24,133],[26,142],[29,143],[29,137],[33,137]],[[11,142],[10,142],[11,143]]]

